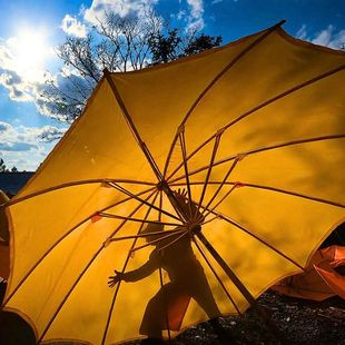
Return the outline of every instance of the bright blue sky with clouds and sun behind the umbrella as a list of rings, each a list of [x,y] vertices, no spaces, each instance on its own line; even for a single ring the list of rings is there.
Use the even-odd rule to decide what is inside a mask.
[[[9,168],[34,170],[56,145],[39,136],[68,128],[38,102],[45,76],[59,73],[55,48],[66,34],[85,36],[103,10],[125,16],[150,7],[172,26],[200,28],[224,43],[282,19],[297,38],[345,43],[344,0],[0,0],[0,158]]]

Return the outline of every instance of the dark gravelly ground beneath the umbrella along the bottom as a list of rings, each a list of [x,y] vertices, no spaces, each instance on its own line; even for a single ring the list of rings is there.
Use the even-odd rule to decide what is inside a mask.
[[[322,303],[303,300],[267,292],[258,299],[270,310],[272,319],[286,344],[345,344],[345,300],[338,297]],[[282,342],[268,331],[253,309],[243,317],[220,318],[226,339],[219,341],[209,323],[191,327],[170,342],[171,345],[277,345]],[[33,345],[32,332],[16,316],[0,313],[1,345]],[[62,343],[60,343],[62,344]],[[71,343],[63,343],[65,345]],[[140,344],[131,342],[128,345]],[[169,343],[168,343],[169,344]]]

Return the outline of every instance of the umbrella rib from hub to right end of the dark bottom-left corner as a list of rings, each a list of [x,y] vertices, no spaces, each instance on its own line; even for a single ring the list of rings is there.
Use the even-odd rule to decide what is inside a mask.
[[[148,200],[155,193],[157,193],[157,190],[154,190],[147,198],[146,200]],[[131,213],[130,216],[132,216],[134,214],[136,214],[145,204],[141,203],[140,205],[138,205]],[[111,233],[111,235],[108,238],[111,238],[112,236],[115,236],[127,223],[127,220],[122,220],[122,223]],[[69,298],[69,296],[71,295],[71,293],[75,290],[76,286],[78,285],[78,283],[81,280],[81,278],[83,277],[83,275],[86,274],[86,272],[88,270],[88,268],[92,265],[92,263],[96,260],[96,258],[98,257],[98,255],[105,249],[105,245],[102,245],[101,247],[99,247],[99,249],[93,254],[93,256],[91,257],[91,259],[88,262],[88,264],[86,265],[86,267],[81,270],[81,273],[79,274],[77,280],[75,280],[75,283],[72,284],[72,286],[70,287],[70,289],[68,290],[68,293],[65,295],[65,297],[62,298],[61,303],[59,304],[57,310],[53,313],[52,317],[50,318],[50,321],[48,322],[46,328],[43,329],[40,338],[38,339],[38,343],[40,343],[42,341],[42,338],[45,337],[45,335],[47,334],[47,332],[49,331],[50,326],[52,325],[52,323],[55,322],[56,317],[58,316],[58,314],[60,313],[61,308],[63,307],[65,303],[67,302],[67,299]]]

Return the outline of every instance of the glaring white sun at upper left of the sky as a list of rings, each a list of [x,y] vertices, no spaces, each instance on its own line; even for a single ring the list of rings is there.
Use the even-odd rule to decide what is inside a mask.
[[[52,52],[47,40],[47,33],[42,29],[24,28],[9,40],[9,45],[11,46],[16,70],[29,79],[38,79],[38,71],[45,69]]]

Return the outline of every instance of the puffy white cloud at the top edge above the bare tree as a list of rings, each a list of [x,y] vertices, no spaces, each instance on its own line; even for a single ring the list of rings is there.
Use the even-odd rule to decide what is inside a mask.
[[[158,0],[93,0],[89,9],[83,9],[83,18],[91,24],[98,24],[106,13],[115,13],[120,17],[128,14],[144,16],[158,2]]]

